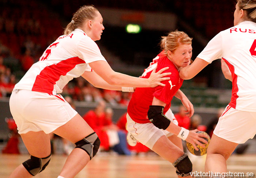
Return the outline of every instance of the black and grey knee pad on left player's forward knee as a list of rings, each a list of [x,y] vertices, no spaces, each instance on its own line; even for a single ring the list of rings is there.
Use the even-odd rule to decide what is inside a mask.
[[[86,153],[90,156],[90,159],[91,159],[98,152],[101,141],[99,141],[98,135],[95,132],[93,132],[92,134],[76,142],[75,144],[76,144],[76,148],[80,148],[86,151]]]

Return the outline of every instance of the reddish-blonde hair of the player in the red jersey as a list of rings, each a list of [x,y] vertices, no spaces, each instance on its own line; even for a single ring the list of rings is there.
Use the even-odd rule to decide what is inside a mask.
[[[169,32],[167,36],[162,36],[161,50],[164,50],[167,55],[167,51],[174,51],[180,44],[192,44],[192,38],[187,33],[182,31]]]

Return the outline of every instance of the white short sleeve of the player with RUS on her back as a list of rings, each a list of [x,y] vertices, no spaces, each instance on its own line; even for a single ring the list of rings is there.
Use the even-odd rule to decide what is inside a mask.
[[[222,57],[222,36],[218,33],[206,45],[204,50],[200,52],[197,58],[203,59],[208,63]]]

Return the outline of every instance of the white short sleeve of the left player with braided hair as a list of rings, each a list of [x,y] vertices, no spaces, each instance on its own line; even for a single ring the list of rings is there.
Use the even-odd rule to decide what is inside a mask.
[[[102,56],[98,45],[88,36],[83,37],[77,44],[76,51],[78,57],[83,59],[86,63],[91,63],[97,60],[106,59]]]

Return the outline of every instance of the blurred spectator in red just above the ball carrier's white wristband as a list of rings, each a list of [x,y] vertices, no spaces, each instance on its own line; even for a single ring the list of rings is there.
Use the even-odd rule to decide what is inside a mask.
[[[175,118],[178,120],[178,126],[189,129],[190,127],[190,118],[187,116],[187,109],[180,105],[179,112],[174,114]]]

